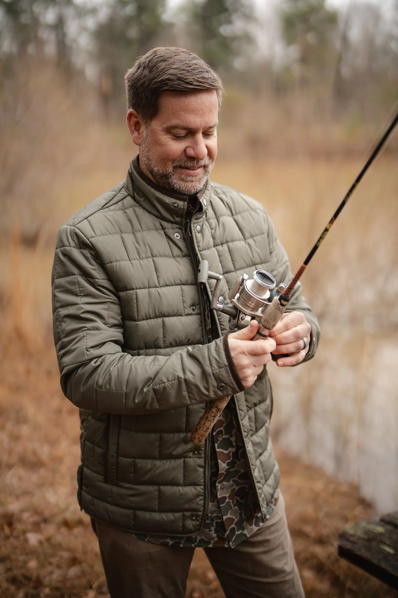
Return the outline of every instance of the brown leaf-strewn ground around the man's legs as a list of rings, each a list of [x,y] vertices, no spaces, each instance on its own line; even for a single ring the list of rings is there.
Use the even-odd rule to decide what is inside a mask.
[[[76,502],[78,413],[61,395],[54,351],[23,339],[1,349],[0,597],[106,597],[95,537]],[[337,556],[338,530],[372,515],[356,488],[276,453],[307,598],[396,596]],[[201,550],[186,596],[224,596]]]

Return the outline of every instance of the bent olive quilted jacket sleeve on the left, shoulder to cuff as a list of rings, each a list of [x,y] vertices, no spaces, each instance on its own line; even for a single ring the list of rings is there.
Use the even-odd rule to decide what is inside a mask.
[[[52,288],[61,389],[78,407],[147,414],[239,392],[222,338],[170,356],[124,352],[118,294],[76,227],[58,233]]]

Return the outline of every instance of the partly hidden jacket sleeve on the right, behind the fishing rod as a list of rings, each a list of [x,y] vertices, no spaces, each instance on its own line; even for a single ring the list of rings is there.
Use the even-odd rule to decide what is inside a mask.
[[[285,249],[283,249],[281,243],[277,239],[274,225],[270,220],[268,224],[268,237],[271,257],[271,273],[273,274],[274,279],[276,279],[277,284],[279,284],[280,282],[284,282],[286,285],[288,285],[293,278],[289,265],[288,255],[286,254]],[[317,345],[319,343],[320,330],[316,316],[311,311],[310,306],[308,306],[306,300],[301,294],[301,290],[301,283],[298,282],[294,290],[292,291],[286,312],[302,312],[304,316],[306,316],[308,324],[310,324],[311,326],[310,342],[308,343],[308,351],[306,357],[303,359],[304,362],[309,361],[315,355]],[[274,357],[275,359],[278,359],[280,355],[275,355]]]

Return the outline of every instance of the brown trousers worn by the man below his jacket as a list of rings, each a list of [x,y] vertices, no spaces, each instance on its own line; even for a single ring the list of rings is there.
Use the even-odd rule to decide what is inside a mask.
[[[92,520],[111,598],[184,598],[194,548],[150,544]],[[282,495],[236,548],[205,548],[227,598],[303,598]]]

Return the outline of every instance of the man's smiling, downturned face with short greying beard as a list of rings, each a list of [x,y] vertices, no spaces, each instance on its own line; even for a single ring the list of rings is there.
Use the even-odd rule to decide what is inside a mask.
[[[165,189],[198,193],[217,156],[217,118],[214,90],[163,91],[158,114],[141,127],[143,172]]]

